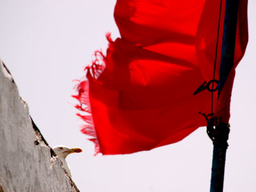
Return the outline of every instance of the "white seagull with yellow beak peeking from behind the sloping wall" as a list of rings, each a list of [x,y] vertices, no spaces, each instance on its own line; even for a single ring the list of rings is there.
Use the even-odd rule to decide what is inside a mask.
[[[72,177],[71,172],[70,172],[70,167],[68,166],[67,161],[66,161],[66,157],[69,154],[72,154],[72,153],[83,152],[83,150],[81,150],[81,148],[69,148],[69,147],[66,147],[66,146],[63,146],[63,145],[58,145],[58,146],[56,146],[52,149],[54,150],[56,155],[61,160],[63,168],[67,171],[68,175],[70,177]]]

